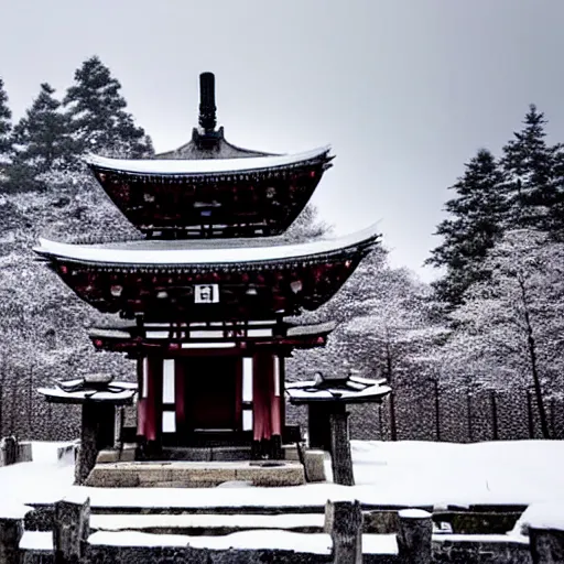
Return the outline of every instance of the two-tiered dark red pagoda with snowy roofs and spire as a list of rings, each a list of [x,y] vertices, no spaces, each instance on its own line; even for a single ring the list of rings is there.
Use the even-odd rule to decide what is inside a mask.
[[[295,440],[285,425],[285,360],[323,347],[335,328],[295,319],[330,300],[378,243],[375,228],[302,243],[272,238],[304,209],[332,159],[328,147],[280,155],[229,143],[210,73],[200,75],[199,127],[187,144],[151,160],[88,158],[144,238],[41,239],[35,251],[108,314],[90,329],[94,347],[137,362],[143,457],[227,446],[280,458]]]

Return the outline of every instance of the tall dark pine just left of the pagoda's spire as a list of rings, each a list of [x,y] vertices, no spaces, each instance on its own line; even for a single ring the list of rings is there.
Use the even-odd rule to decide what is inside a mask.
[[[75,73],[63,101],[69,116],[77,153],[141,158],[153,154],[151,139],[137,127],[120,94],[121,84],[94,56]]]

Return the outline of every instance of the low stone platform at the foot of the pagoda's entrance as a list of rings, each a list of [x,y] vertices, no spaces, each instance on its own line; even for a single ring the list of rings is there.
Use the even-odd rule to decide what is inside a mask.
[[[213,488],[224,482],[253,486],[300,486],[305,482],[299,462],[120,462],[97,464],[86,486],[99,488]]]

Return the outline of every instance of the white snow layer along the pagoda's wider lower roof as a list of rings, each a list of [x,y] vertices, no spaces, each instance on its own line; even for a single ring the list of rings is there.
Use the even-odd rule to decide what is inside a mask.
[[[150,240],[139,246],[131,242],[110,245],[69,245],[40,239],[34,250],[46,257],[57,257],[90,263],[112,264],[225,264],[269,262],[333,254],[357,246],[369,246],[378,239],[376,225],[362,231],[313,242],[275,247],[191,248],[191,242],[170,246],[170,241]]]

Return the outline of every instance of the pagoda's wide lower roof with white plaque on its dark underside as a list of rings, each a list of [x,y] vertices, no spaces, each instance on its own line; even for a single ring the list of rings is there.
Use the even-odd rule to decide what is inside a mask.
[[[102,313],[147,322],[272,319],[327,302],[377,245],[372,226],[335,239],[274,247],[150,240],[34,250]]]

